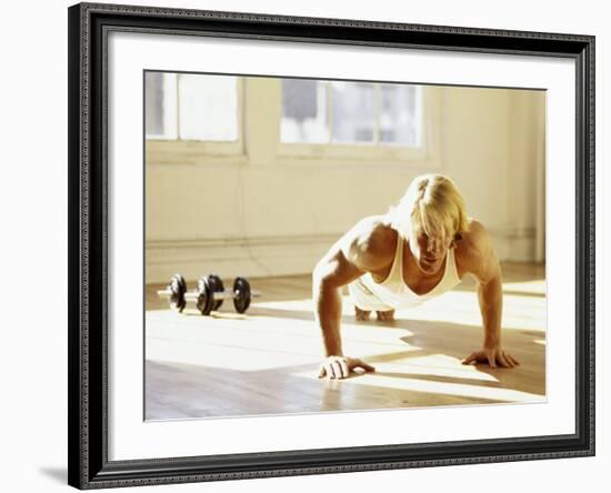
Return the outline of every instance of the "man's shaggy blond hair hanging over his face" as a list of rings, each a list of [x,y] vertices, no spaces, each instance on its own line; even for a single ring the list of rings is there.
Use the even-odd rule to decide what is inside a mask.
[[[403,237],[423,232],[442,241],[469,229],[464,199],[443,174],[414,178],[399,203],[389,211],[392,227]]]

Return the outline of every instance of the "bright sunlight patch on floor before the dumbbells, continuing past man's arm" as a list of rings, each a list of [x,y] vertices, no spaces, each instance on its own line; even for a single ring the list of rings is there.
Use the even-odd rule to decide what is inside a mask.
[[[260,371],[318,366],[323,354],[322,340],[309,320],[214,320],[169,310],[147,312],[146,320],[146,358],[150,361]],[[343,334],[345,351],[355,358],[420,350],[401,340],[412,335],[404,329],[345,324]]]

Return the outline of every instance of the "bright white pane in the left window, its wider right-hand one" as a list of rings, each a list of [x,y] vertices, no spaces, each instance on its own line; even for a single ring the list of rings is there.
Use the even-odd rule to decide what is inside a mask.
[[[238,140],[238,79],[228,76],[180,74],[180,138]]]

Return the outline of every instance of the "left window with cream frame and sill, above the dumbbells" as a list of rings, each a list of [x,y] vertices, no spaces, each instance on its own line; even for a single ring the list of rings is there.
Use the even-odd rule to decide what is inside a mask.
[[[146,72],[147,143],[179,155],[241,152],[240,88],[231,76]]]

